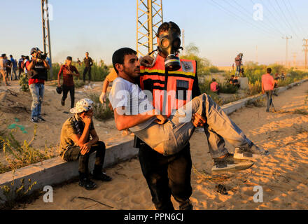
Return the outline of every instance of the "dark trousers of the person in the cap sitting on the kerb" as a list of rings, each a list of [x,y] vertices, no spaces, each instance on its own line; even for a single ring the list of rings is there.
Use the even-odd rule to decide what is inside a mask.
[[[97,152],[95,158],[95,167],[98,167],[97,169],[102,170],[106,151],[106,146],[103,141],[97,141],[97,144],[92,146],[90,151],[85,155],[81,155],[79,146],[71,147],[65,151],[63,159],[66,161],[75,161],[79,158],[78,171],[80,174],[83,174],[87,177],[89,173],[89,157],[91,153],[95,151]]]

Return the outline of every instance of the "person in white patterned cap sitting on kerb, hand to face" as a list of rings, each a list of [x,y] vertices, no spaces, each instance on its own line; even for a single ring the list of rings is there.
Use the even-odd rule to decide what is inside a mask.
[[[86,190],[96,188],[88,174],[90,154],[96,151],[93,179],[111,181],[111,177],[102,172],[106,147],[99,141],[93,125],[93,102],[90,99],[80,99],[76,107],[71,109],[74,116],[65,121],[60,137],[60,155],[66,161],[78,160],[79,186]],[[90,136],[92,139],[90,139]]]

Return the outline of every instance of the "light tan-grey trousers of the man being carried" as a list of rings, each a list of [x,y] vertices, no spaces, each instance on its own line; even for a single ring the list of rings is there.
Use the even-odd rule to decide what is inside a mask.
[[[208,137],[211,146],[220,143],[218,147],[224,148],[225,143],[223,139],[235,147],[251,144],[251,140],[246,137],[241,129],[230,120],[221,107],[207,94],[201,94],[181,107],[164,125],[151,123],[144,130],[134,132],[134,134],[151,148],[156,148],[162,144],[164,155],[179,153],[188,144],[190,137],[195,132],[195,126],[191,123],[193,113],[199,113],[207,118],[204,134]],[[209,138],[209,134],[214,133],[218,134],[218,139],[216,137]],[[211,143],[211,141],[213,142]],[[214,150],[211,154],[213,158],[217,158],[219,155],[225,155],[227,152],[226,150],[225,152]],[[219,154],[216,155],[216,153]]]

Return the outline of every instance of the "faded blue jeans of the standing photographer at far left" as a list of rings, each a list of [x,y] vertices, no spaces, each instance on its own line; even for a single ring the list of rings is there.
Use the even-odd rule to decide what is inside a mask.
[[[44,84],[34,83],[29,85],[32,94],[31,118],[41,117],[41,104],[44,96]]]

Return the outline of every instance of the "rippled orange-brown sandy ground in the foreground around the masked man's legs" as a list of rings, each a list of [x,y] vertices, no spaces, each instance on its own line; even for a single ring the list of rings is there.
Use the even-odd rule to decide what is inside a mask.
[[[297,109],[308,111],[307,90],[308,83],[304,83],[274,97],[276,109],[288,113],[265,113],[265,107],[246,107],[231,115],[249,139],[271,153],[246,171],[211,174],[212,160],[204,134],[195,132],[190,141],[190,199],[194,209],[308,209],[308,116],[292,113]],[[227,146],[232,153],[234,148]],[[106,172],[113,181],[97,182],[96,190],[84,190],[74,182],[54,188],[52,203],[44,203],[41,196],[20,209],[111,209],[78,197],[97,200],[113,209],[155,209],[138,159],[110,167]],[[218,183],[228,189],[228,195],[216,192]],[[262,187],[263,202],[253,202],[257,193],[254,186]]]

